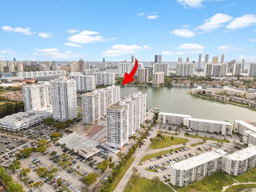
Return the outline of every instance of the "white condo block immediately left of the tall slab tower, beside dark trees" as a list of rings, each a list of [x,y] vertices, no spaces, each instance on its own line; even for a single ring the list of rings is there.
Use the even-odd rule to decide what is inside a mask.
[[[51,85],[48,81],[22,86],[24,110],[39,110],[52,105]]]

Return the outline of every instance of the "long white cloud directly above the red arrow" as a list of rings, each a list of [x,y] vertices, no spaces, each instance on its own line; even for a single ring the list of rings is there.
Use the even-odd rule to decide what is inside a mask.
[[[135,54],[137,51],[149,50],[151,49],[147,45],[113,45],[110,50],[103,51],[104,56],[116,57],[125,54]]]

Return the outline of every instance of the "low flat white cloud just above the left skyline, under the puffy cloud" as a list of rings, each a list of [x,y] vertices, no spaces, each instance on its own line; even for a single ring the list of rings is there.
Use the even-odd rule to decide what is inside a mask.
[[[71,51],[60,52],[57,48],[47,49],[35,49],[36,52],[33,55],[41,55],[44,57],[50,57],[55,59],[70,59],[70,58],[81,58],[80,54],[72,53]]]

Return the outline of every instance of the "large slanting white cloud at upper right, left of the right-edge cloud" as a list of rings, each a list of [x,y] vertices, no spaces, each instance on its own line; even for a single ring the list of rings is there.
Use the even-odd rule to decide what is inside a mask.
[[[204,20],[204,24],[196,27],[196,29],[203,30],[204,32],[210,32],[224,26],[225,23],[230,22],[233,19],[232,16],[227,14],[217,13],[209,19]]]

